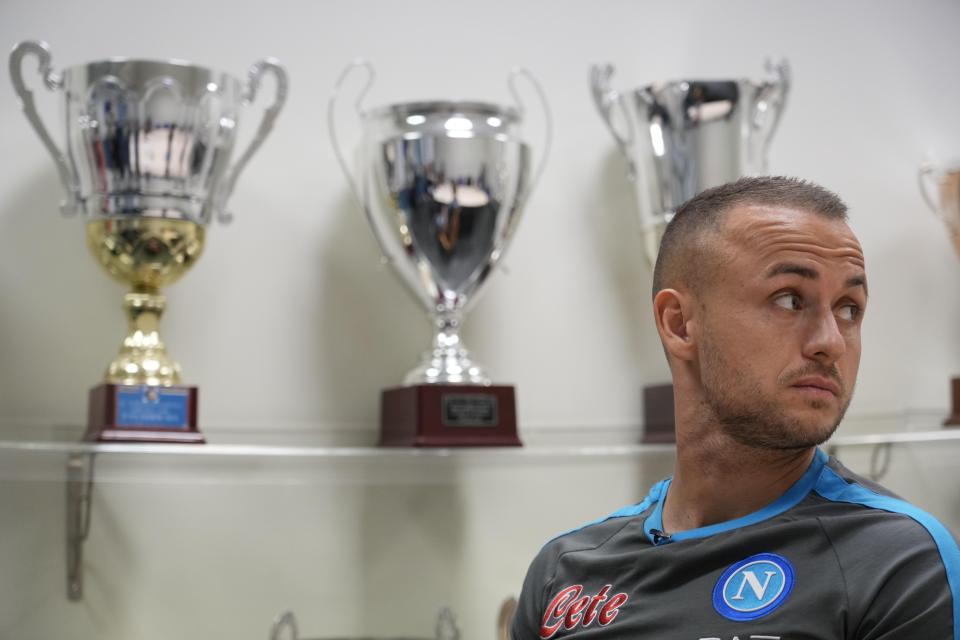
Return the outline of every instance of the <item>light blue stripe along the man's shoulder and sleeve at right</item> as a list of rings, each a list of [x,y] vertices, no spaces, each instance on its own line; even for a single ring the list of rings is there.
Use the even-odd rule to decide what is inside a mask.
[[[847,502],[899,513],[923,525],[936,543],[947,571],[947,583],[953,598],[953,638],[960,640],[960,549],[947,528],[923,509],[903,500],[882,496],[861,485],[848,483],[829,467],[824,468],[815,491],[833,502]]]

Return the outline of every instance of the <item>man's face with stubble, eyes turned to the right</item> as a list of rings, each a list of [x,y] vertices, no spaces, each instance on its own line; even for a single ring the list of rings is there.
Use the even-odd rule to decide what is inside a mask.
[[[860,244],[840,220],[778,207],[737,207],[722,226],[697,300],[705,409],[743,445],[820,444],[843,418],[860,364]]]

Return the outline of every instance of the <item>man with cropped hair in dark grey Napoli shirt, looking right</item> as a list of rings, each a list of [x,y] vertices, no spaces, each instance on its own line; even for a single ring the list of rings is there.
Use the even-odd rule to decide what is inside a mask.
[[[782,177],[677,211],[653,287],[675,474],[541,550],[515,640],[960,640],[953,537],[817,448],[850,402],[867,305],[845,220]]]

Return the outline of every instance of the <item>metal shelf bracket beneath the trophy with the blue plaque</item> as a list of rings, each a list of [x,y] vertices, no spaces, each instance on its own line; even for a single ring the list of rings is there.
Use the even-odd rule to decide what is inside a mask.
[[[67,599],[83,598],[83,543],[90,534],[93,502],[92,453],[67,458]]]

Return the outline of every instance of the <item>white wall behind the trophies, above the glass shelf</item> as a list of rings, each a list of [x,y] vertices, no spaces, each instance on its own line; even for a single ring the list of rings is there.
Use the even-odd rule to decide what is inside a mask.
[[[534,70],[555,112],[555,151],[510,275],[489,283],[466,338],[497,380],[517,385],[524,428],[583,429],[637,424],[639,389],[666,379],[632,192],[587,91],[597,61],[616,63],[626,88],[759,77],[764,56],[787,56],[795,90],[770,169],[840,192],[868,261],[851,414],[946,408],[960,369],[960,269],[914,176],[927,154],[960,156],[958,19],[956,2],[8,0],[0,43],[44,38],[60,67],[178,57],[241,76],[265,55],[286,64],[290,101],[237,188],[235,223],[212,229],[201,262],[168,290],[165,336],[200,386],[211,438],[371,430],[379,390],[429,340],[418,303],[379,267],[330,151],[325,108],[342,66],[357,55],[377,65],[371,104],[506,102],[507,70]],[[54,96],[38,93],[55,117]],[[123,288],[86,255],[80,221],[56,213],[52,161],[8,82],[0,127],[0,416],[75,424],[123,335]]]

